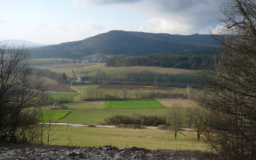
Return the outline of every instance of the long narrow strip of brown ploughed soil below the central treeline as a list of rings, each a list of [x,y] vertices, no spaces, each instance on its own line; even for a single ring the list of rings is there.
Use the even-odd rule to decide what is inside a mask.
[[[110,85],[110,84],[103,84],[98,86],[95,89],[108,89],[108,90],[159,90],[159,91],[171,91],[174,88],[157,88],[157,87],[145,87],[140,85],[128,85],[128,84],[116,84],[116,85]]]

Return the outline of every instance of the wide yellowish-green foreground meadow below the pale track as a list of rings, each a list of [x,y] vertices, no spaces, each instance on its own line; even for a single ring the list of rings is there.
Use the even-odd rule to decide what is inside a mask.
[[[60,138],[51,145],[68,145],[67,126],[56,127],[55,135]],[[147,149],[172,149],[172,150],[207,150],[207,145],[202,141],[196,141],[196,132],[182,131],[175,140],[174,133],[170,131],[143,130],[140,129],[104,129],[88,127],[68,127],[71,145],[99,147],[113,145],[116,147],[143,147]],[[55,136],[54,135],[54,136]],[[52,136],[52,138],[54,138]]]

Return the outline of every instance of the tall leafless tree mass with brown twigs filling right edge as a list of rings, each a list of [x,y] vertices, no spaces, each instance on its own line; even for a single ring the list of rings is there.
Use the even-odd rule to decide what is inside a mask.
[[[223,30],[219,62],[198,74],[205,95],[200,106],[222,115],[211,121],[212,146],[231,159],[256,158],[256,1],[227,0],[220,6]]]

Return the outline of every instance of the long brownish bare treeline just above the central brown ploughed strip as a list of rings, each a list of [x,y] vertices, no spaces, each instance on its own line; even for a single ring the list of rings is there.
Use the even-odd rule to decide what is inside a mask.
[[[140,73],[130,72],[125,74],[123,77],[109,77],[108,73],[105,73],[104,70],[97,70],[97,76],[85,76],[81,77],[81,79],[86,79],[90,84],[143,84],[144,86],[156,86],[163,88],[186,88],[187,86],[196,88],[197,86],[194,83],[194,76],[195,75],[193,73],[162,74],[159,72],[144,70]],[[81,83],[73,83],[73,85],[79,84]]]

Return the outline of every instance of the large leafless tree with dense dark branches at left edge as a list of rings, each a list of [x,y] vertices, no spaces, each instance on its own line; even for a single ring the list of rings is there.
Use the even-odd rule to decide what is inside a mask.
[[[28,58],[26,47],[0,42],[0,140],[22,140],[24,125],[30,125],[24,118],[33,116],[26,113],[44,95],[44,79],[33,74]]]

